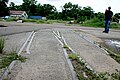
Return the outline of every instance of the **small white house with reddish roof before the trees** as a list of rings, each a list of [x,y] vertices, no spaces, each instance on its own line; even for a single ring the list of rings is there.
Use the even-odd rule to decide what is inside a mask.
[[[25,11],[10,10],[10,17],[26,19],[28,15]]]

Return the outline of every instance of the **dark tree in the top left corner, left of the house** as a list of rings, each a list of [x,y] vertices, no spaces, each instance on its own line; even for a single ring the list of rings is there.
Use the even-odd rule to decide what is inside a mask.
[[[7,3],[9,0],[0,0],[0,17],[9,15]]]

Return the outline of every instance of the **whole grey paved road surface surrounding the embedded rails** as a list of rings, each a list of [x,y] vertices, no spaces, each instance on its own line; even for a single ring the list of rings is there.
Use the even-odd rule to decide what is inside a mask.
[[[11,80],[72,80],[62,47],[52,31],[60,31],[67,44],[78,53],[97,72],[114,72],[120,70],[120,64],[93,43],[104,42],[103,39],[120,39],[119,30],[102,33],[101,28],[78,27],[64,24],[35,24],[0,22],[8,27],[0,27],[0,36],[6,39],[6,51],[21,48],[31,31],[36,34],[30,46],[30,54],[25,49],[21,55],[27,57],[25,63],[15,67]]]

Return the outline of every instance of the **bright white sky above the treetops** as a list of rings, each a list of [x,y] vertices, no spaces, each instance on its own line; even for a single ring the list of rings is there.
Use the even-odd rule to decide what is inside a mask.
[[[57,11],[62,10],[62,6],[65,3],[71,2],[72,4],[78,4],[81,7],[90,6],[95,12],[104,13],[105,10],[111,6],[113,13],[120,13],[120,0],[36,0],[40,4],[51,4],[57,8]],[[16,5],[23,3],[23,0],[9,0],[14,2]]]

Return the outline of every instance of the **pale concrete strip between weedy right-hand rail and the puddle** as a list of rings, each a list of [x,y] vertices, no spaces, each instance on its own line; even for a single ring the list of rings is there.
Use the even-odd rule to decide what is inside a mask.
[[[86,60],[97,72],[114,72],[120,64],[107,56],[105,51],[89,43],[72,30],[61,30],[68,45]]]

